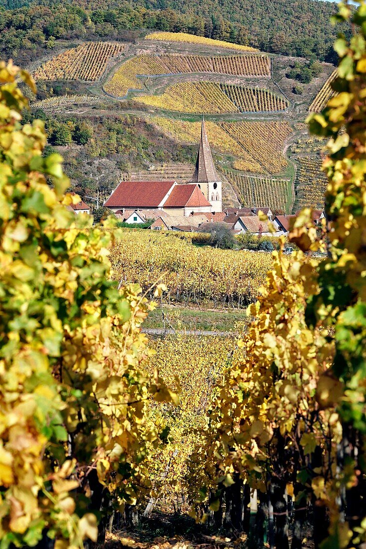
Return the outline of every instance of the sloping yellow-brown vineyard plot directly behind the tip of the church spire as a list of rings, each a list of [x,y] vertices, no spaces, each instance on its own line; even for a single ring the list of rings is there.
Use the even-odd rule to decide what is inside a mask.
[[[179,142],[195,144],[199,141],[200,122],[171,120],[163,116],[149,117],[148,120]],[[287,122],[207,121],[206,127],[212,147],[236,157],[235,169],[269,174],[286,169],[287,161],[282,150],[292,134]]]

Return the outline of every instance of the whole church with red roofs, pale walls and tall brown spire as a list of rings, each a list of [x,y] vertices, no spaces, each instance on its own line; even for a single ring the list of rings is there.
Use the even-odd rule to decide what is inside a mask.
[[[118,214],[158,210],[171,216],[191,216],[223,211],[222,182],[213,163],[202,117],[195,171],[190,181],[122,181],[104,203]]]

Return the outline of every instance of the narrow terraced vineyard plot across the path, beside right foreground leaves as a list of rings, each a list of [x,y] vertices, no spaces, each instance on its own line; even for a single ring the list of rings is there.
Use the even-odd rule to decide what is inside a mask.
[[[300,166],[295,180],[294,211],[306,206],[323,209],[327,180],[324,172],[320,171],[320,155],[299,157],[297,161]]]

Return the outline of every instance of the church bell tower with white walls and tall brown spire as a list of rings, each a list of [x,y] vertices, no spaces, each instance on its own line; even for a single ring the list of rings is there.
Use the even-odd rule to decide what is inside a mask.
[[[190,183],[198,183],[199,188],[212,205],[213,212],[223,211],[223,183],[219,180],[213,163],[203,116],[196,167]]]

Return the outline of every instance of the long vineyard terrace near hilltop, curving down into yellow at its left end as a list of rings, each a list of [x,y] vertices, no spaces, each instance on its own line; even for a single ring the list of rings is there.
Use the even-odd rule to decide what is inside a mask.
[[[143,89],[138,76],[197,72],[270,77],[270,59],[267,55],[137,55],[121,64],[104,89],[124,97],[129,89]]]

